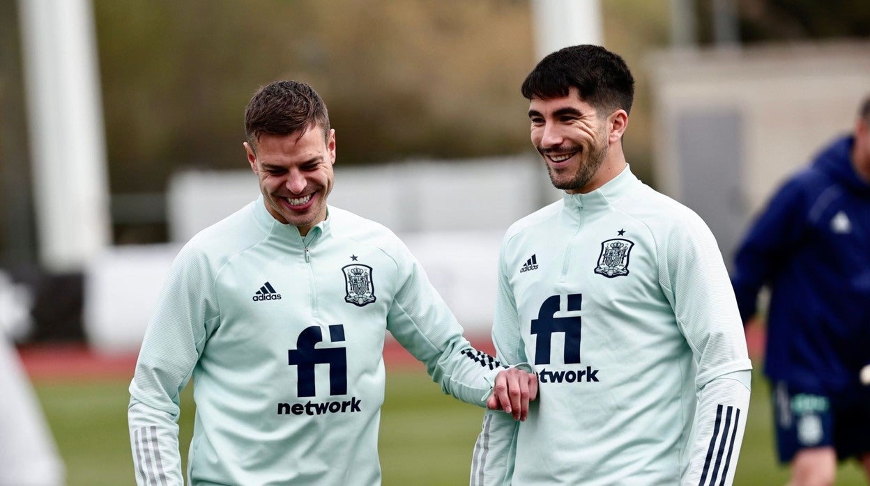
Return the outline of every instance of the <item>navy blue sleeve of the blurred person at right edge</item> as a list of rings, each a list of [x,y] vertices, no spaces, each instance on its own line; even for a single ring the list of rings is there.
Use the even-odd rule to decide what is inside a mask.
[[[746,323],[756,312],[759,290],[789,257],[804,228],[806,201],[793,180],[773,196],[760,213],[734,257],[731,279],[740,318]]]

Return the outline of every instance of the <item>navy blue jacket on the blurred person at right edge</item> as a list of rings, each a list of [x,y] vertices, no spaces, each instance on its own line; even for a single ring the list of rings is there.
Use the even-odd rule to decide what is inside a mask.
[[[771,289],[765,373],[809,392],[860,386],[870,363],[870,184],[840,138],[773,196],[732,277],[744,323]]]

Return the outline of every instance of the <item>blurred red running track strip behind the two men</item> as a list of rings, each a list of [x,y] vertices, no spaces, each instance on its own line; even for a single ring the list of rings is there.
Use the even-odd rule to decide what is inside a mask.
[[[472,336],[471,341],[478,350],[494,352],[489,336]],[[749,355],[760,357],[764,350],[764,330],[754,326],[746,328],[746,342]],[[36,382],[131,379],[137,357],[135,353],[97,353],[84,343],[22,346],[18,352],[24,369]],[[384,361],[387,369],[423,369],[421,363],[392,339],[385,343]]]

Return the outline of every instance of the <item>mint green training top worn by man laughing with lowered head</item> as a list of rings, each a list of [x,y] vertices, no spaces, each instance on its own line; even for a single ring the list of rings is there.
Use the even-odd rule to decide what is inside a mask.
[[[384,226],[329,207],[302,237],[260,197],[203,230],[172,263],[130,385],[137,483],[183,484],[192,376],[191,485],[380,484],[386,330],[445,393],[484,405],[499,364]]]

